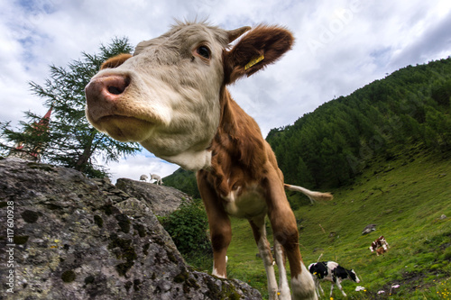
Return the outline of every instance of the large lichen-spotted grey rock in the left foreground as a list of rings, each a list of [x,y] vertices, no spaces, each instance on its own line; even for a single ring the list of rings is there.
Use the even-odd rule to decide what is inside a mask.
[[[1,299],[262,298],[189,268],[149,205],[78,171],[2,159],[0,206]]]

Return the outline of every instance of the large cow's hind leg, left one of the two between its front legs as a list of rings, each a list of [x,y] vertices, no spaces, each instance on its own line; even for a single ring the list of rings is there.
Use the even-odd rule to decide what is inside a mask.
[[[283,298],[277,295],[277,281],[274,273],[274,260],[272,259],[271,247],[270,243],[266,238],[266,228],[264,226],[264,216],[254,218],[253,220],[249,220],[251,224],[251,228],[253,229],[253,238],[257,243],[257,247],[260,253],[260,256],[263,260],[264,269],[266,271],[266,277],[268,279],[268,295],[270,300],[277,299],[290,299],[290,290],[289,297]]]

